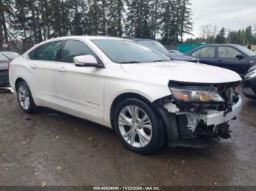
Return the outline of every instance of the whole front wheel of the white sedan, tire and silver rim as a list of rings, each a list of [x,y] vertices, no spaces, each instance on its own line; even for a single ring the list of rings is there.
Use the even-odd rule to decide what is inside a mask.
[[[150,106],[136,98],[128,98],[117,106],[114,125],[124,146],[146,155],[156,152],[165,143],[162,122]]]

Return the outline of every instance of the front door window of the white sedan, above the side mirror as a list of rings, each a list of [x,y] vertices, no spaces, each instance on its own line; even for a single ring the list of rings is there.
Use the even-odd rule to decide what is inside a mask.
[[[97,55],[83,42],[78,40],[67,40],[62,53],[62,62],[74,63],[73,58],[78,55]]]

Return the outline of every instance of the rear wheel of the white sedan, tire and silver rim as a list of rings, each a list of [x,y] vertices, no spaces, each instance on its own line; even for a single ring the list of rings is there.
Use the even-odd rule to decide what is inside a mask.
[[[34,99],[31,95],[29,85],[26,82],[19,82],[17,85],[17,97],[23,112],[32,114],[37,112],[37,106],[34,104]]]

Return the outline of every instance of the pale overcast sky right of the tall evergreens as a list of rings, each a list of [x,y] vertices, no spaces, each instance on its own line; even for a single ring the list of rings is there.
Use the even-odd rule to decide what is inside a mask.
[[[256,25],[256,0],[190,0],[195,36],[200,36],[200,26],[212,24],[238,30]],[[189,37],[189,36],[187,36]]]

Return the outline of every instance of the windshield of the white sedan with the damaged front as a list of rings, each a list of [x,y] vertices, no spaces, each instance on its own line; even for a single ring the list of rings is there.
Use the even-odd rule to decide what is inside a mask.
[[[170,61],[164,55],[136,42],[121,39],[95,39],[91,41],[115,63]]]

